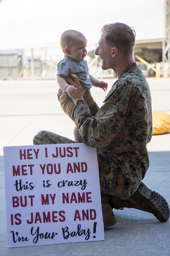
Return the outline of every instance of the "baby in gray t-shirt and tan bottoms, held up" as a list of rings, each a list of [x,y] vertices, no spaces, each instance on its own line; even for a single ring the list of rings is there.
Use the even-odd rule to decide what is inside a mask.
[[[86,88],[92,86],[107,90],[108,84],[95,79],[88,72],[88,64],[85,60],[87,50],[87,39],[76,30],[67,30],[63,32],[60,38],[60,44],[64,53],[64,58],[58,63],[57,82],[59,84],[58,100],[63,111],[75,122],[74,137],[75,141],[80,143],[80,135],[78,132],[78,124],[75,121],[74,111],[75,105],[68,94],[75,94],[77,88],[66,82],[70,74],[75,74],[82,86],[84,86],[83,98],[86,102]]]

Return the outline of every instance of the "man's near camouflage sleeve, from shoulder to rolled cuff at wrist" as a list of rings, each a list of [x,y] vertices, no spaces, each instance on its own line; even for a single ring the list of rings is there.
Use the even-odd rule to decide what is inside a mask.
[[[127,83],[127,82],[126,82]],[[125,124],[129,103],[134,99],[135,92],[130,84],[116,84],[110,90],[105,104],[92,116],[88,107],[81,104],[75,110],[79,133],[87,146],[108,146]]]

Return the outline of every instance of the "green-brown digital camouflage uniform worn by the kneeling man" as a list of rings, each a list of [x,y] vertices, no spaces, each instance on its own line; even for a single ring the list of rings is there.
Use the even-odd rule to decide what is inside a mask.
[[[149,167],[146,144],[152,136],[151,96],[148,83],[132,63],[107,94],[103,106],[79,105],[75,110],[82,141],[98,149],[101,191],[128,199]],[[34,144],[73,141],[41,131]]]

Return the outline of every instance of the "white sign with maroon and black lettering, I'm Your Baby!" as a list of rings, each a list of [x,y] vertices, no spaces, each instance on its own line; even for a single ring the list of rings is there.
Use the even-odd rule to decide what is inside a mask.
[[[96,148],[4,147],[8,247],[104,240]]]

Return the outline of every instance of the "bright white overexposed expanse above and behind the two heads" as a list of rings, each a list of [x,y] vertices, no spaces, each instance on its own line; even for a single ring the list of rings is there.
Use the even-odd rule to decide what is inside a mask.
[[[1,1],[1,0],[0,0]],[[97,44],[104,24],[133,26],[136,39],[164,36],[164,0],[3,0],[0,3],[0,50],[55,43],[63,31],[82,32],[88,47]]]

